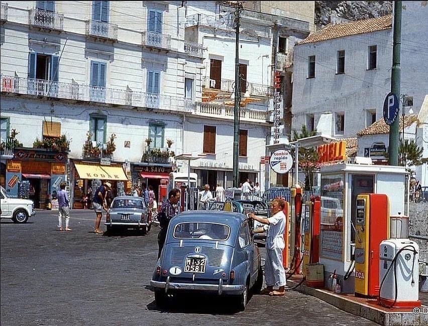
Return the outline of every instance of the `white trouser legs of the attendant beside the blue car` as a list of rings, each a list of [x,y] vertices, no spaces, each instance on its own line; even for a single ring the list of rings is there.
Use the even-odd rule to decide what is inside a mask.
[[[265,280],[266,286],[287,285],[285,270],[282,266],[282,248],[266,248]]]

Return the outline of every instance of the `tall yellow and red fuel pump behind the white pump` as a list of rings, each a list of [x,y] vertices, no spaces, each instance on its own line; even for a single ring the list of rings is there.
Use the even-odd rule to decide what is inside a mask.
[[[385,194],[357,196],[355,225],[355,295],[379,295],[379,244],[389,238],[389,200]]]

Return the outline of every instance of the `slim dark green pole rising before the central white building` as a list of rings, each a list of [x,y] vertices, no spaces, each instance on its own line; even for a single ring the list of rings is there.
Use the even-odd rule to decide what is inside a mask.
[[[234,123],[233,123],[233,186],[239,187],[239,119],[240,119],[240,105],[241,105],[241,89],[240,89],[240,76],[239,76],[239,27],[241,13],[243,11],[242,3],[236,2],[235,4],[235,106],[233,110]]]

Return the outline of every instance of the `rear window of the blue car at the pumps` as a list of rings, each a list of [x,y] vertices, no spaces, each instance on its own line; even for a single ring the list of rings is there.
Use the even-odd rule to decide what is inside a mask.
[[[175,226],[174,238],[224,241],[229,237],[230,231],[230,227],[224,224],[187,222]]]

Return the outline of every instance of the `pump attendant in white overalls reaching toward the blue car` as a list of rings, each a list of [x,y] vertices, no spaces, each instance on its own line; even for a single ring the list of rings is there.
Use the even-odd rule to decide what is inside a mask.
[[[261,292],[262,294],[285,295],[287,280],[282,266],[282,250],[285,247],[285,214],[282,212],[284,207],[285,202],[283,199],[274,199],[271,203],[271,216],[269,218],[258,217],[253,213],[249,214],[251,219],[269,226],[266,238],[266,288]],[[274,286],[278,286],[279,289],[274,290]]]

